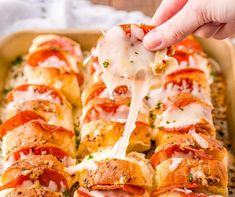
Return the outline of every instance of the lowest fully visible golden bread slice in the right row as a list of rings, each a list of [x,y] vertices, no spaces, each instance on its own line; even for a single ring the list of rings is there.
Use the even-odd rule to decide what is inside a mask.
[[[156,188],[196,183],[209,191],[226,193],[227,168],[219,160],[183,159],[173,167],[172,159],[159,164],[155,170]],[[173,169],[172,169],[173,168]]]

